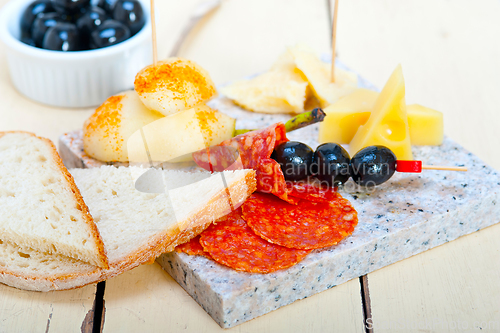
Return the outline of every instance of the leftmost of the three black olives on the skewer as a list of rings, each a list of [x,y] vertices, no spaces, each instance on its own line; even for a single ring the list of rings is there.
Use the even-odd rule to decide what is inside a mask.
[[[271,158],[278,162],[286,180],[301,180],[309,175],[313,150],[296,141],[283,142],[277,146]]]

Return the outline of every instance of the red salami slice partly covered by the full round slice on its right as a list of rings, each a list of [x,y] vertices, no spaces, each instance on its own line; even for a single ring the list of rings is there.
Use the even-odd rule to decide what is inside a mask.
[[[288,268],[311,252],[271,244],[260,238],[242,219],[241,209],[208,227],[201,234],[200,243],[215,261],[249,273],[271,273]]]

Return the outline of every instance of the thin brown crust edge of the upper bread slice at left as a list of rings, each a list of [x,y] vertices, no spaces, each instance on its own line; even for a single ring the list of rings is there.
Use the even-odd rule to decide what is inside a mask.
[[[90,232],[92,234],[92,237],[94,239],[95,245],[97,247],[97,253],[98,253],[98,262],[94,263],[97,264],[97,266],[102,267],[102,268],[109,268],[109,263],[108,263],[108,257],[106,255],[106,249],[104,248],[104,242],[102,241],[101,234],[99,233],[99,230],[97,229],[97,226],[94,223],[94,219],[92,215],[90,214],[89,208],[83,201],[82,194],[80,193],[80,190],[75,184],[75,180],[73,179],[73,176],[69,173],[68,169],[63,164],[63,161],[61,157],[59,156],[59,153],[57,152],[57,148],[54,145],[54,143],[43,137],[39,137],[34,133],[31,132],[26,132],[26,131],[6,131],[6,132],[0,132],[0,138],[7,134],[14,134],[14,133],[21,133],[21,134],[27,134],[30,135],[34,138],[37,138],[44,142],[52,151],[52,160],[53,162],[57,165],[59,168],[59,171],[63,174],[67,185],[71,189],[71,192],[73,192],[74,199],[78,203],[78,206],[80,207],[80,211],[83,213],[83,217],[85,220],[85,223],[90,229]],[[2,271],[0,270],[0,273]]]

